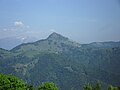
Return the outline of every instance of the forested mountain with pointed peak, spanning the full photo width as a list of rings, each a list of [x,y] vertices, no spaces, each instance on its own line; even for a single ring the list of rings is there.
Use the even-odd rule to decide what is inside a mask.
[[[58,33],[33,43],[0,49],[0,73],[13,74],[35,86],[54,82],[60,90],[80,90],[98,80],[120,84],[120,42],[79,44]],[[106,90],[106,89],[105,89]]]

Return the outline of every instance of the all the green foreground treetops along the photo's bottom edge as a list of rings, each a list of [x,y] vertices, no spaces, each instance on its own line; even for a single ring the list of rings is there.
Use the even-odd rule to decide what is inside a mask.
[[[84,90],[103,90],[101,83],[97,82],[96,85],[86,84]],[[32,85],[25,84],[19,78],[12,75],[0,74],[0,90],[59,90],[58,87],[51,82],[45,82],[38,88]],[[75,89],[76,90],[76,89]],[[120,90],[120,87],[109,85],[107,90]]]

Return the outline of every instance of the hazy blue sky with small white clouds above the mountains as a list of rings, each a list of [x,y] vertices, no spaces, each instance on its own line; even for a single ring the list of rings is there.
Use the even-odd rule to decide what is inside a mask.
[[[0,0],[0,38],[53,31],[80,43],[120,40],[120,1]]]

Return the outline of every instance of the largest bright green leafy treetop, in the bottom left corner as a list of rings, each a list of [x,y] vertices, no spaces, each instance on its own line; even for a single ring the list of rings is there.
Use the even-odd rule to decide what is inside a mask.
[[[0,90],[27,90],[27,87],[15,76],[0,74]]]

